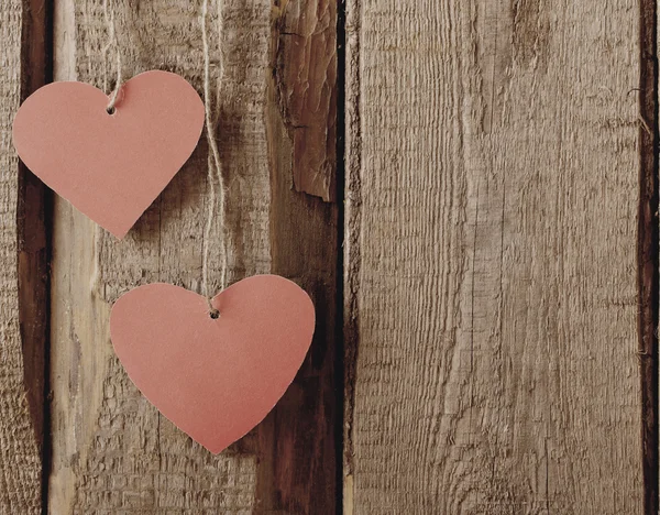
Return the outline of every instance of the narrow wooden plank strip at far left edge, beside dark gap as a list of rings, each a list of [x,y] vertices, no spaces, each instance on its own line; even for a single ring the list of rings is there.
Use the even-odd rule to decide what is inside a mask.
[[[23,355],[19,296],[19,160],[11,144],[11,123],[29,87],[23,43],[32,34],[23,2],[0,4],[0,513],[41,513],[43,375],[35,370],[34,341]],[[30,61],[30,59],[28,59]],[[43,341],[41,342],[43,344]],[[32,412],[30,409],[32,403]]]

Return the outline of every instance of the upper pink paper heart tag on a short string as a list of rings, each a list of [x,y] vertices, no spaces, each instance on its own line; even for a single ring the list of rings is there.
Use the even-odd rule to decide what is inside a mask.
[[[89,84],[50,84],[19,109],[13,142],[32,173],[123,238],[190,157],[205,109],[183,77],[160,70],[123,84],[114,113],[107,106]]]

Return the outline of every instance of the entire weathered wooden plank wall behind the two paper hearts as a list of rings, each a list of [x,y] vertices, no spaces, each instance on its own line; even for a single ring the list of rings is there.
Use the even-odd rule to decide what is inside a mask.
[[[11,145],[22,99],[111,90],[116,51],[201,94],[200,13],[0,4],[0,514],[657,514],[654,1],[209,1],[230,282],[318,317],[218,457],[108,333],[132,287],[199,289],[206,139],[121,242]]]

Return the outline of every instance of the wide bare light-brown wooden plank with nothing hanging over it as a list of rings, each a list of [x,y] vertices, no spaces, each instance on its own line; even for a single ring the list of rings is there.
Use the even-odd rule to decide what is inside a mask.
[[[641,513],[638,17],[348,3],[346,513]]]

